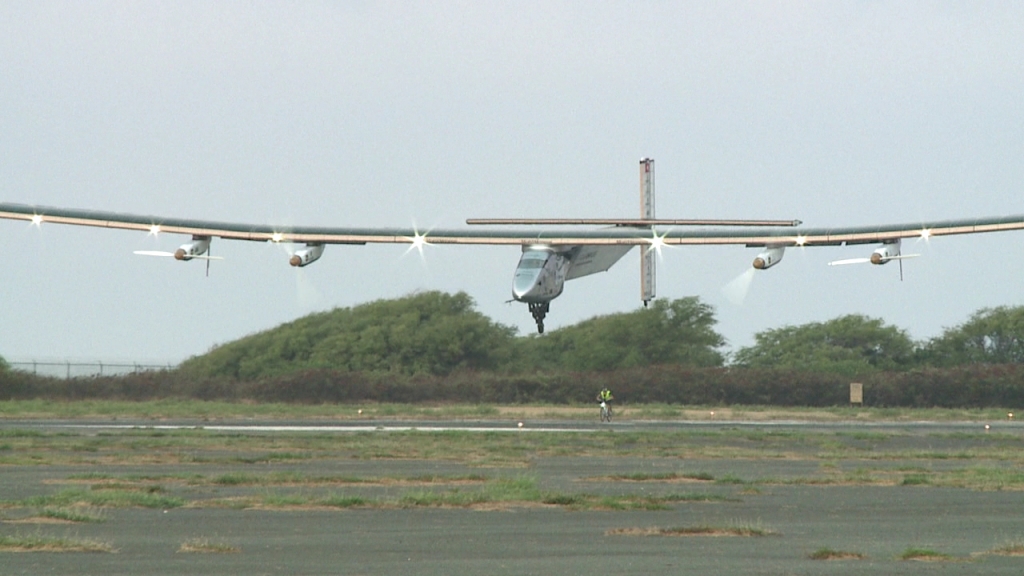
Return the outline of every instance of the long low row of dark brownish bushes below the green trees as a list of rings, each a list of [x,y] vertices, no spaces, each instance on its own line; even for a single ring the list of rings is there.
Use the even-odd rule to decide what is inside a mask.
[[[885,372],[864,378],[863,383],[865,406],[1024,406],[1024,366],[1018,364]],[[447,376],[310,370],[254,381],[197,378],[180,371],[72,379],[18,371],[0,373],[0,400],[573,404],[590,402],[602,387],[610,388],[620,402],[631,404],[821,407],[845,405],[850,400],[849,379],[837,374],[680,366],[532,375],[459,372]]]

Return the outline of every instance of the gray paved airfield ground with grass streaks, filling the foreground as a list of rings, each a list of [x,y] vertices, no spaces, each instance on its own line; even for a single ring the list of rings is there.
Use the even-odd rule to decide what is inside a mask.
[[[117,551],[0,551],[0,573],[1024,573],[1024,558],[983,553],[1009,541],[1024,542],[1024,517],[1020,513],[1024,483],[1014,480],[1021,476],[1018,454],[1024,453],[1024,427],[1018,422],[989,422],[988,434],[985,422],[523,424],[520,428],[518,422],[506,420],[2,421],[0,501],[7,504],[0,507],[4,521],[0,537],[93,539],[111,543]],[[187,431],[197,428],[204,434]],[[175,430],[183,433],[179,436]],[[478,437],[478,444],[494,442],[512,459],[464,460],[459,458],[461,454],[447,457],[443,453],[389,456],[389,450],[401,448],[410,438],[419,438],[410,436],[413,430],[423,431],[424,438],[436,437],[441,444],[450,438],[443,433],[470,433],[468,441],[463,440],[466,435],[451,437],[453,442],[469,443],[460,445],[460,450],[472,449],[477,438],[472,433],[481,433],[485,436]],[[367,434],[374,431],[384,434]],[[561,433],[570,434],[558,436]],[[362,452],[353,452],[350,443],[367,442],[367,438],[373,444]],[[616,438],[628,444],[620,447]],[[378,446],[374,439],[383,444]],[[584,454],[573,448],[589,446],[592,441],[613,449]],[[310,447],[294,448],[304,442]],[[531,448],[535,446],[544,449]],[[927,480],[919,483],[933,476],[955,479],[978,470],[1004,474],[1016,484],[1008,489],[979,490],[929,485]],[[282,478],[280,475],[398,480],[376,484],[349,480],[334,485],[324,484],[327,481],[233,484],[240,478]],[[647,475],[652,480],[622,482],[612,480],[615,475]],[[657,480],[682,478],[671,475],[714,480]],[[871,475],[893,477],[897,482],[863,480]],[[424,476],[483,480],[401,484],[400,479]],[[217,478],[227,481],[214,482]],[[536,482],[545,493],[592,495],[598,501],[680,494],[708,498],[673,501],[664,509],[610,504],[573,509],[530,502],[343,508],[290,503],[322,497],[391,502],[422,498],[429,492],[459,495],[486,491],[500,479],[520,478]],[[851,480],[819,483],[828,478]],[[185,503],[166,508],[100,508],[103,522],[99,523],[18,522],[31,520],[39,511],[28,503],[36,501],[34,498],[69,491],[86,495],[134,491],[180,498]],[[271,504],[230,504],[245,501]],[[737,525],[762,527],[770,535],[669,537],[615,532]],[[178,551],[183,542],[196,539],[237,551]],[[821,548],[855,551],[864,558],[809,559]],[[909,548],[937,550],[949,557],[939,564],[899,560]]]

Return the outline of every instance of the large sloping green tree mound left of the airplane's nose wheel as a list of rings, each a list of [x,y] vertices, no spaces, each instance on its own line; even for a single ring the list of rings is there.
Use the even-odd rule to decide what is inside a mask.
[[[181,370],[242,380],[310,369],[395,374],[493,370],[515,328],[473,310],[465,292],[424,292],[313,314],[189,359]]]

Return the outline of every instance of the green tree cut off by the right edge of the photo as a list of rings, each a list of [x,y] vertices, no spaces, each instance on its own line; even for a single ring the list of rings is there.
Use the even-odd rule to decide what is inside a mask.
[[[982,308],[922,349],[933,366],[1024,362],[1024,306]]]

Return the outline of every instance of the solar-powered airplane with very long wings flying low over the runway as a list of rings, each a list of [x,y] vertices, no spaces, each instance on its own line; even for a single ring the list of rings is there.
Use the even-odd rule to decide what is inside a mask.
[[[640,217],[575,219],[468,219],[467,229],[415,229],[271,227],[120,214],[95,210],[27,206],[0,203],[0,218],[134,230],[147,234],[183,234],[191,240],[174,252],[139,251],[143,255],[171,256],[188,261],[205,259],[209,264],[213,238],[255,242],[304,244],[289,258],[293,266],[308,265],[324,255],[328,244],[475,244],[520,246],[522,256],[512,280],[512,298],[525,302],[544,332],[544,319],[551,301],[567,280],[605,272],[634,246],[641,247],[640,286],[644,305],[654,298],[654,256],[663,246],[743,245],[761,248],[756,270],[768,270],[782,260],[788,247],[878,244],[862,258],[836,260],[830,264],[870,262],[885,264],[916,254],[902,254],[903,239],[929,239],[956,234],[981,234],[1024,229],[1024,214],[975,219],[953,219],[870,227],[799,228],[800,220],[656,219],[654,217],[654,161],[640,161]],[[510,229],[507,225],[528,228]],[[602,227],[586,228],[580,227]]]

